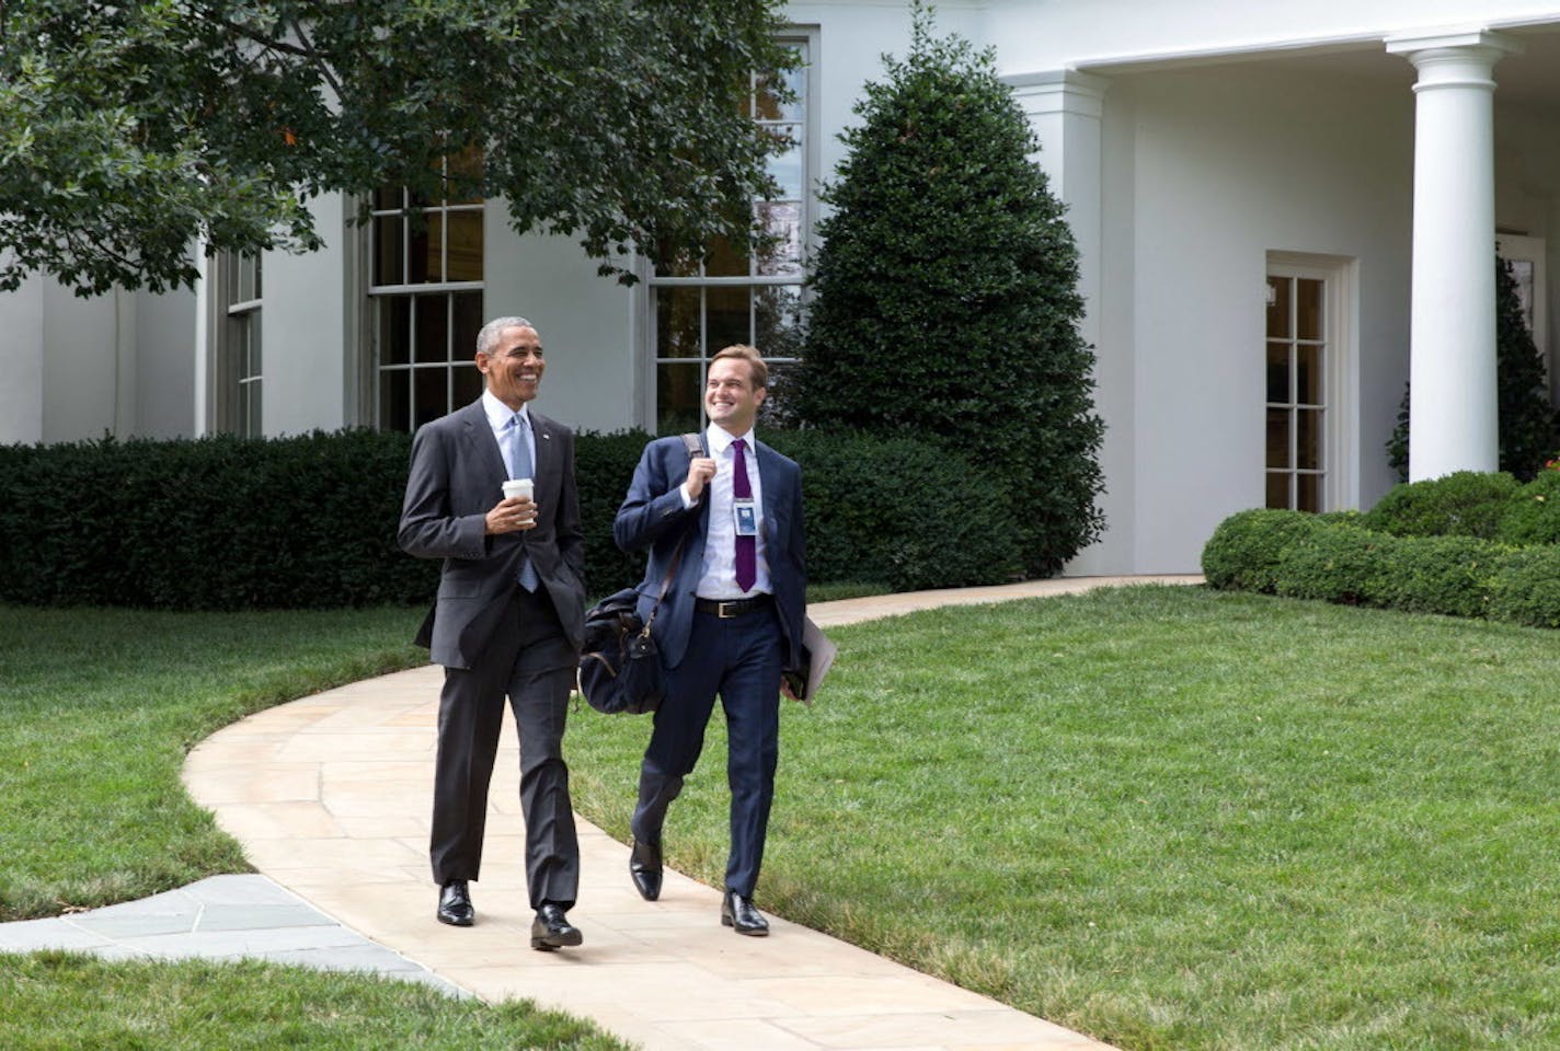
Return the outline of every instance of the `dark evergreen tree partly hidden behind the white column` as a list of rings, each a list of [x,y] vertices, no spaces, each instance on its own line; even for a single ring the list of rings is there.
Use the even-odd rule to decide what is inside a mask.
[[[1544,359],[1523,317],[1512,264],[1494,260],[1494,370],[1501,469],[1532,480],[1555,451],[1555,412],[1544,384]],[[1398,405],[1398,426],[1387,441],[1387,463],[1409,480],[1409,390]]]

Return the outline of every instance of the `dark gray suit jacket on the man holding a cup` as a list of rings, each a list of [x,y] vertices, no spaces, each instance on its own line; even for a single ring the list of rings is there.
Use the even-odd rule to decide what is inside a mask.
[[[487,535],[485,516],[504,499],[504,454],[482,399],[424,424],[412,440],[401,505],[401,549],[443,558],[438,600],[418,642],[435,663],[474,667],[515,589],[521,555],[558,611],[576,649],[585,635],[585,538],[574,488],[574,432],[530,412],[537,438],[537,527]]]

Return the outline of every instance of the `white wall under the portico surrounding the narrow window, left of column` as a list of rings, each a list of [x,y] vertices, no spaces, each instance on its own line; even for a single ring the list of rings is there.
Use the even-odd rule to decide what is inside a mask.
[[[1270,251],[1357,260],[1343,424],[1359,469],[1340,505],[1368,505],[1390,485],[1382,446],[1407,366],[1412,98],[1260,69],[1161,73],[1119,78],[1104,120],[1098,352],[1115,516],[1094,568],[1195,571],[1225,516],[1264,504]]]

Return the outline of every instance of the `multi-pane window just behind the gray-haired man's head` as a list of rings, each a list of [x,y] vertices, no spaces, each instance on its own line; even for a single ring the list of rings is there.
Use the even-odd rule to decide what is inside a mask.
[[[479,162],[479,161],[476,161]],[[482,200],[374,195],[368,228],[378,424],[415,430],[482,393]]]

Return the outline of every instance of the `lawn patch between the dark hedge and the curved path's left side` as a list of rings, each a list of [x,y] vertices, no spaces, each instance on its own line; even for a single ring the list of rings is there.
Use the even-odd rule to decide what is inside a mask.
[[[427,660],[421,610],[0,607],[0,920],[248,872],[179,783],[242,716]]]

